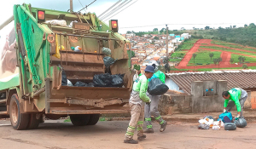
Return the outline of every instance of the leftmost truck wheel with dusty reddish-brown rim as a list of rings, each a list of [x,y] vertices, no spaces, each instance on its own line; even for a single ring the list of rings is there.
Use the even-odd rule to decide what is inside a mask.
[[[12,126],[16,130],[26,129],[29,122],[28,114],[20,113],[20,102],[18,95],[14,94],[11,97],[9,106],[9,117],[12,123]]]

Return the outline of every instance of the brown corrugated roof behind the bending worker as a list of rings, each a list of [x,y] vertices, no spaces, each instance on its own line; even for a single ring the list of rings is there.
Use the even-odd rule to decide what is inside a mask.
[[[227,80],[228,89],[255,89],[256,88],[256,70],[244,71],[216,71],[216,72],[182,72],[166,73],[180,89],[191,95],[191,83],[193,81],[203,80]]]

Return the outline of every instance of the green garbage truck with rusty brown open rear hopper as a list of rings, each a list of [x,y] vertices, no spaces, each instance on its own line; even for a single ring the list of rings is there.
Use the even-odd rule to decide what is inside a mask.
[[[103,113],[129,112],[131,43],[118,33],[118,20],[108,26],[92,13],[30,4],[13,9],[0,26],[0,118],[9,117],[19,130],[38,128],[43,116],[69,116],[81,126],[96,124]],[[111,66],[104,65],[106,56]],[[122,87],[63,84],[90,84],[106,73],[125,74]]]

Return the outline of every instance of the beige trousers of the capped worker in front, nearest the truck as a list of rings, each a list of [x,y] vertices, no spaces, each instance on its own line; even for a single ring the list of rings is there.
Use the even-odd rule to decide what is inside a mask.
[[[137,136],[143,136],[144,107],[140,104],[132,103],[129,103],[129,106],[131,109],[131,120],[125,134],[125,140],[132,140],[136,127]]]

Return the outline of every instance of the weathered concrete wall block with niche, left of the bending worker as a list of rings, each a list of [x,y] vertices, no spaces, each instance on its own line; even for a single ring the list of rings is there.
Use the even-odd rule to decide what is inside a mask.
[[[206,89],[213,89],[206,92]],[[191,84],[192,112],[222,112],[224,98],[222,92],[227,90],[227,81],[195,81]]]

